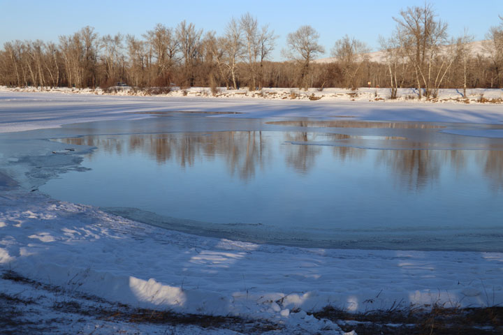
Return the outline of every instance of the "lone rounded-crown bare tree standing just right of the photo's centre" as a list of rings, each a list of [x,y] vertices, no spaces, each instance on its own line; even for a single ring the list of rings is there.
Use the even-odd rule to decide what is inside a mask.
[[[319,34],[311,26],[301,26],[297,31],[288,34],[286,45],[288,49],[282,50],[284,57],[298,63],[300,68],[299,87],[307,91],[309,86],[309,64],[316,59],[318,54],[323,54],[325,48],[318,44]]]

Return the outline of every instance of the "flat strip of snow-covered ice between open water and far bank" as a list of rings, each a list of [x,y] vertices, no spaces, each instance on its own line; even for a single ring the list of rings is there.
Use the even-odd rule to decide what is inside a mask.
[[[502,91],[503,92],[503,91]],[[255,98],[99,96],[0,91],[0,133],[55,128],[75,122],[140,119],[154,112],[229,112],[235,118],[351,118],[503,124],[498,104],[377,103],[375,101],[259,100]]]

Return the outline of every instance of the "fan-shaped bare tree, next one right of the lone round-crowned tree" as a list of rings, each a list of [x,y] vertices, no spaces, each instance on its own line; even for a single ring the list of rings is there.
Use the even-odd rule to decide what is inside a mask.
[[[365,43],[347,35],[335,42],[332,56],[337,59],[342,68],[342,75],[348,89],[357,87],[355,78],[363,61],[367,60],[366,52],[369,52],[369,49]]]

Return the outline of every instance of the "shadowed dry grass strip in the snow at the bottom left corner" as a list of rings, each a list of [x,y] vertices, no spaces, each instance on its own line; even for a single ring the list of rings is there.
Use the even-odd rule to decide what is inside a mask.
[[[132,308],[126,304],[112,303],[100,297],[83,295],[73,290],[65,290],[59,286],[46,285],[20,276],[15,271],[4,271],[2,279],[38,288],[41,292],[51,292],[58,299],[45,302],[48,311],[55,311],[57,315],[68,315],[68,318],[48,320],[38,325],[33,320],[40,320],[40,309],[26,306],[41,306],[43,301],[22,299],[17,296],[0,292],[0,334],[49,334],[51,327],[59,322],[73,320],[75,315],[82,315],[83,320],[103,320],[117,322],[117,324],[156,324],[166,327],[177,325],[191,325],[205,329],[230,329],[242,334],[263,334],[282,329],[284,326],[268,320],[249,320],[237,316],[213,316],[175,313],[168,310],[154,310],[148,308]],[[41,298],[43,299],[43,298]],[[85,322],[85,321],[84,321]]]

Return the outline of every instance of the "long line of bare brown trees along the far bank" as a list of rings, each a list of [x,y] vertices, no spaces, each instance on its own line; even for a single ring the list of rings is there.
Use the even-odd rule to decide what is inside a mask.
[[[471,50],[467,32],[449,38],[432,6],[411,7],[393,17],[392,36],[381,37],[382,61],[351,36],[335,42],[330,62],[316,62],[325,48],[319,32],[301,26],[286,38],[286,61],[270,61],[277,36],[249,13],[228,22],[224,34],[182,21],[136,36],[99,36],[84,27],[59,43],[14,40],[0,50],[0,84],[9,87],[415,87],[421,96],[439,88],[502,87],[503,17],[491,27],[484,52]]]

